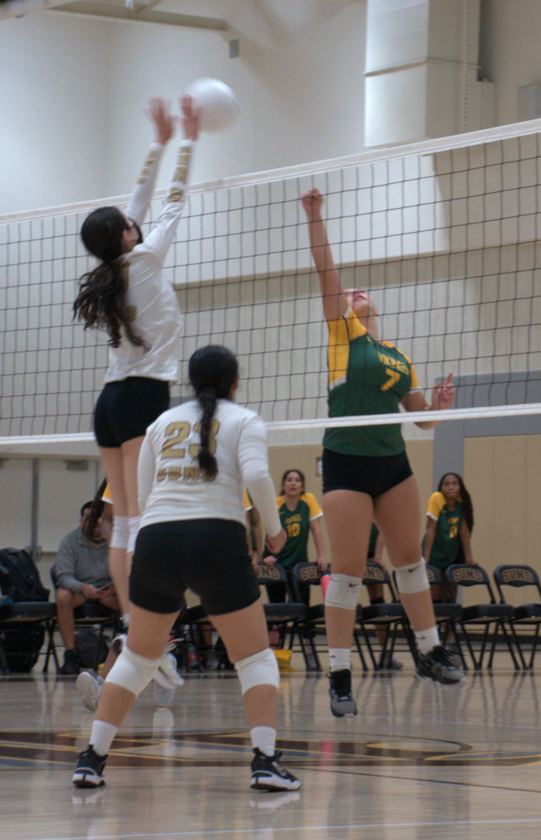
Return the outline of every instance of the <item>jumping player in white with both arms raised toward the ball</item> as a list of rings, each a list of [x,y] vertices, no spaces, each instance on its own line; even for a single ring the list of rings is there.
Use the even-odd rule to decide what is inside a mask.
[[[186,183],[201,113],[182,97],[181,141],[171,186],[155,228],[143,242],[139,225],[150,205],[174,118],[152,99],[147,115],[155,125],[143,170],[129,205],[99,207],[85,219],[81,239],[100,264],[81,279],[75,316],[109,337],[109,367],[94,412],[94,431],[114,499],[109,566],[123,613],[129,611],[129,563],[139,528],[137,463],[146,428],[169,407],[176,381],[181,312],[176,293],[162,273],[186,202]],[[164,656],[164,667],[171,669]]]

